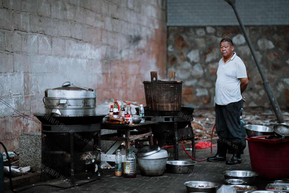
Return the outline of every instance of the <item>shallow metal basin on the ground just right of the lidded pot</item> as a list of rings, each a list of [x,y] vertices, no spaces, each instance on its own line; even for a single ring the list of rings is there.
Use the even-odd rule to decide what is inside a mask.
[[[188,174],[193,172],[195,161],[167,161],[166,170],[173,174]]]

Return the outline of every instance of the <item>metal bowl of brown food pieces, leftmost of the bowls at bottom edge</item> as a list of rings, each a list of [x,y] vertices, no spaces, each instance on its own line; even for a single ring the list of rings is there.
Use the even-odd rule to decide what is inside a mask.
[[[215,193],[215,191],[218,189],[219,186],[219,184],[217,183],[207,181],[188,181],[185,182],[184,185],[186,186],[188,192],[207,192],[207,193]],[[199,187],[202,185],[204,187]],[[206,187],[207,185],[211,187]]]

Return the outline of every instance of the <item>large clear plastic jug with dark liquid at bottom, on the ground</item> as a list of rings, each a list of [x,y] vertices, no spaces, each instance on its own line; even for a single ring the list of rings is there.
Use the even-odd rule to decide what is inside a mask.
[[[127,155],[125,155],[123,160],[123,177],[136,177],[136,157],[133,155],[133,151],[131,149],[127,150]]]

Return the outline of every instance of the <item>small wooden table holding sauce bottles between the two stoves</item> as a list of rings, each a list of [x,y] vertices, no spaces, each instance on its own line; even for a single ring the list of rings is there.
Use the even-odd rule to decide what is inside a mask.
[[[101,129],[116,130],[117,133],[111,134],[100,134],[95,136],[94,141],[98,143],[100,147],[100,139],[108,141],[116,141],[113,146],[105,154],[112,154],[123,141],[125,141],[125,153],[129,148],[137,151],[136,148],[130,146],[130,141],[148,137],[149,145],[153,145],[153,133],[151,131],[151,126],[153,124],[158,124],[157,121],[145,121],[144,123],[129,124],[129,125],[119,125],[119,124],[101,124]],[[133,130],[137,131],[133,131]],[[125,135],[125,137],[123,137]],[[97,144],[96,144],[97,145]],[[110,160],[107,160],[110,161]]]

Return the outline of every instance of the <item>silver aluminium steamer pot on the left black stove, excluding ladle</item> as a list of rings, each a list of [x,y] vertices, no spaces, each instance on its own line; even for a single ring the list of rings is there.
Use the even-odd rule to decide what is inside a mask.
[[[53,116],[95,115],[96,91],[77,87],[46,89],[43,102],[45,114]]]

